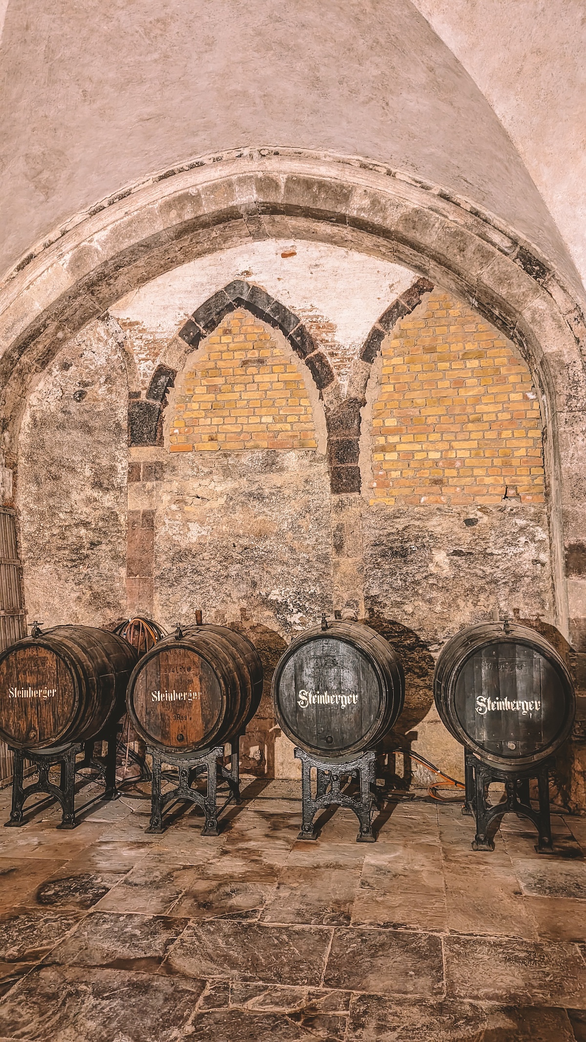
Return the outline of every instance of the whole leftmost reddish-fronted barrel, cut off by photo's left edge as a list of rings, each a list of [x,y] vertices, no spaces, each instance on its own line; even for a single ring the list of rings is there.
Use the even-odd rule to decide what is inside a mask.
[[[124,713],[136,651],[94,626],[55,626],[0,653],[0,735],[16,748],[83,742]]]

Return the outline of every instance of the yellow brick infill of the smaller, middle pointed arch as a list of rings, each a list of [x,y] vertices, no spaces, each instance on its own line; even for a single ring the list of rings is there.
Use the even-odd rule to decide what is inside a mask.
[[[316,448],[298,366],[264,326],[233,312],[177,380],[172,452]]]

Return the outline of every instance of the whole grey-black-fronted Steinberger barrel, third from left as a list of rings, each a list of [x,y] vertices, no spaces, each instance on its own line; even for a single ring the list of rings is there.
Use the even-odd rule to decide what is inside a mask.
[[[361,622],[315,626],[291,642],[273,678],[279,726],[317,758],[374,748],[398,719],[403,668],[392,647]]]

